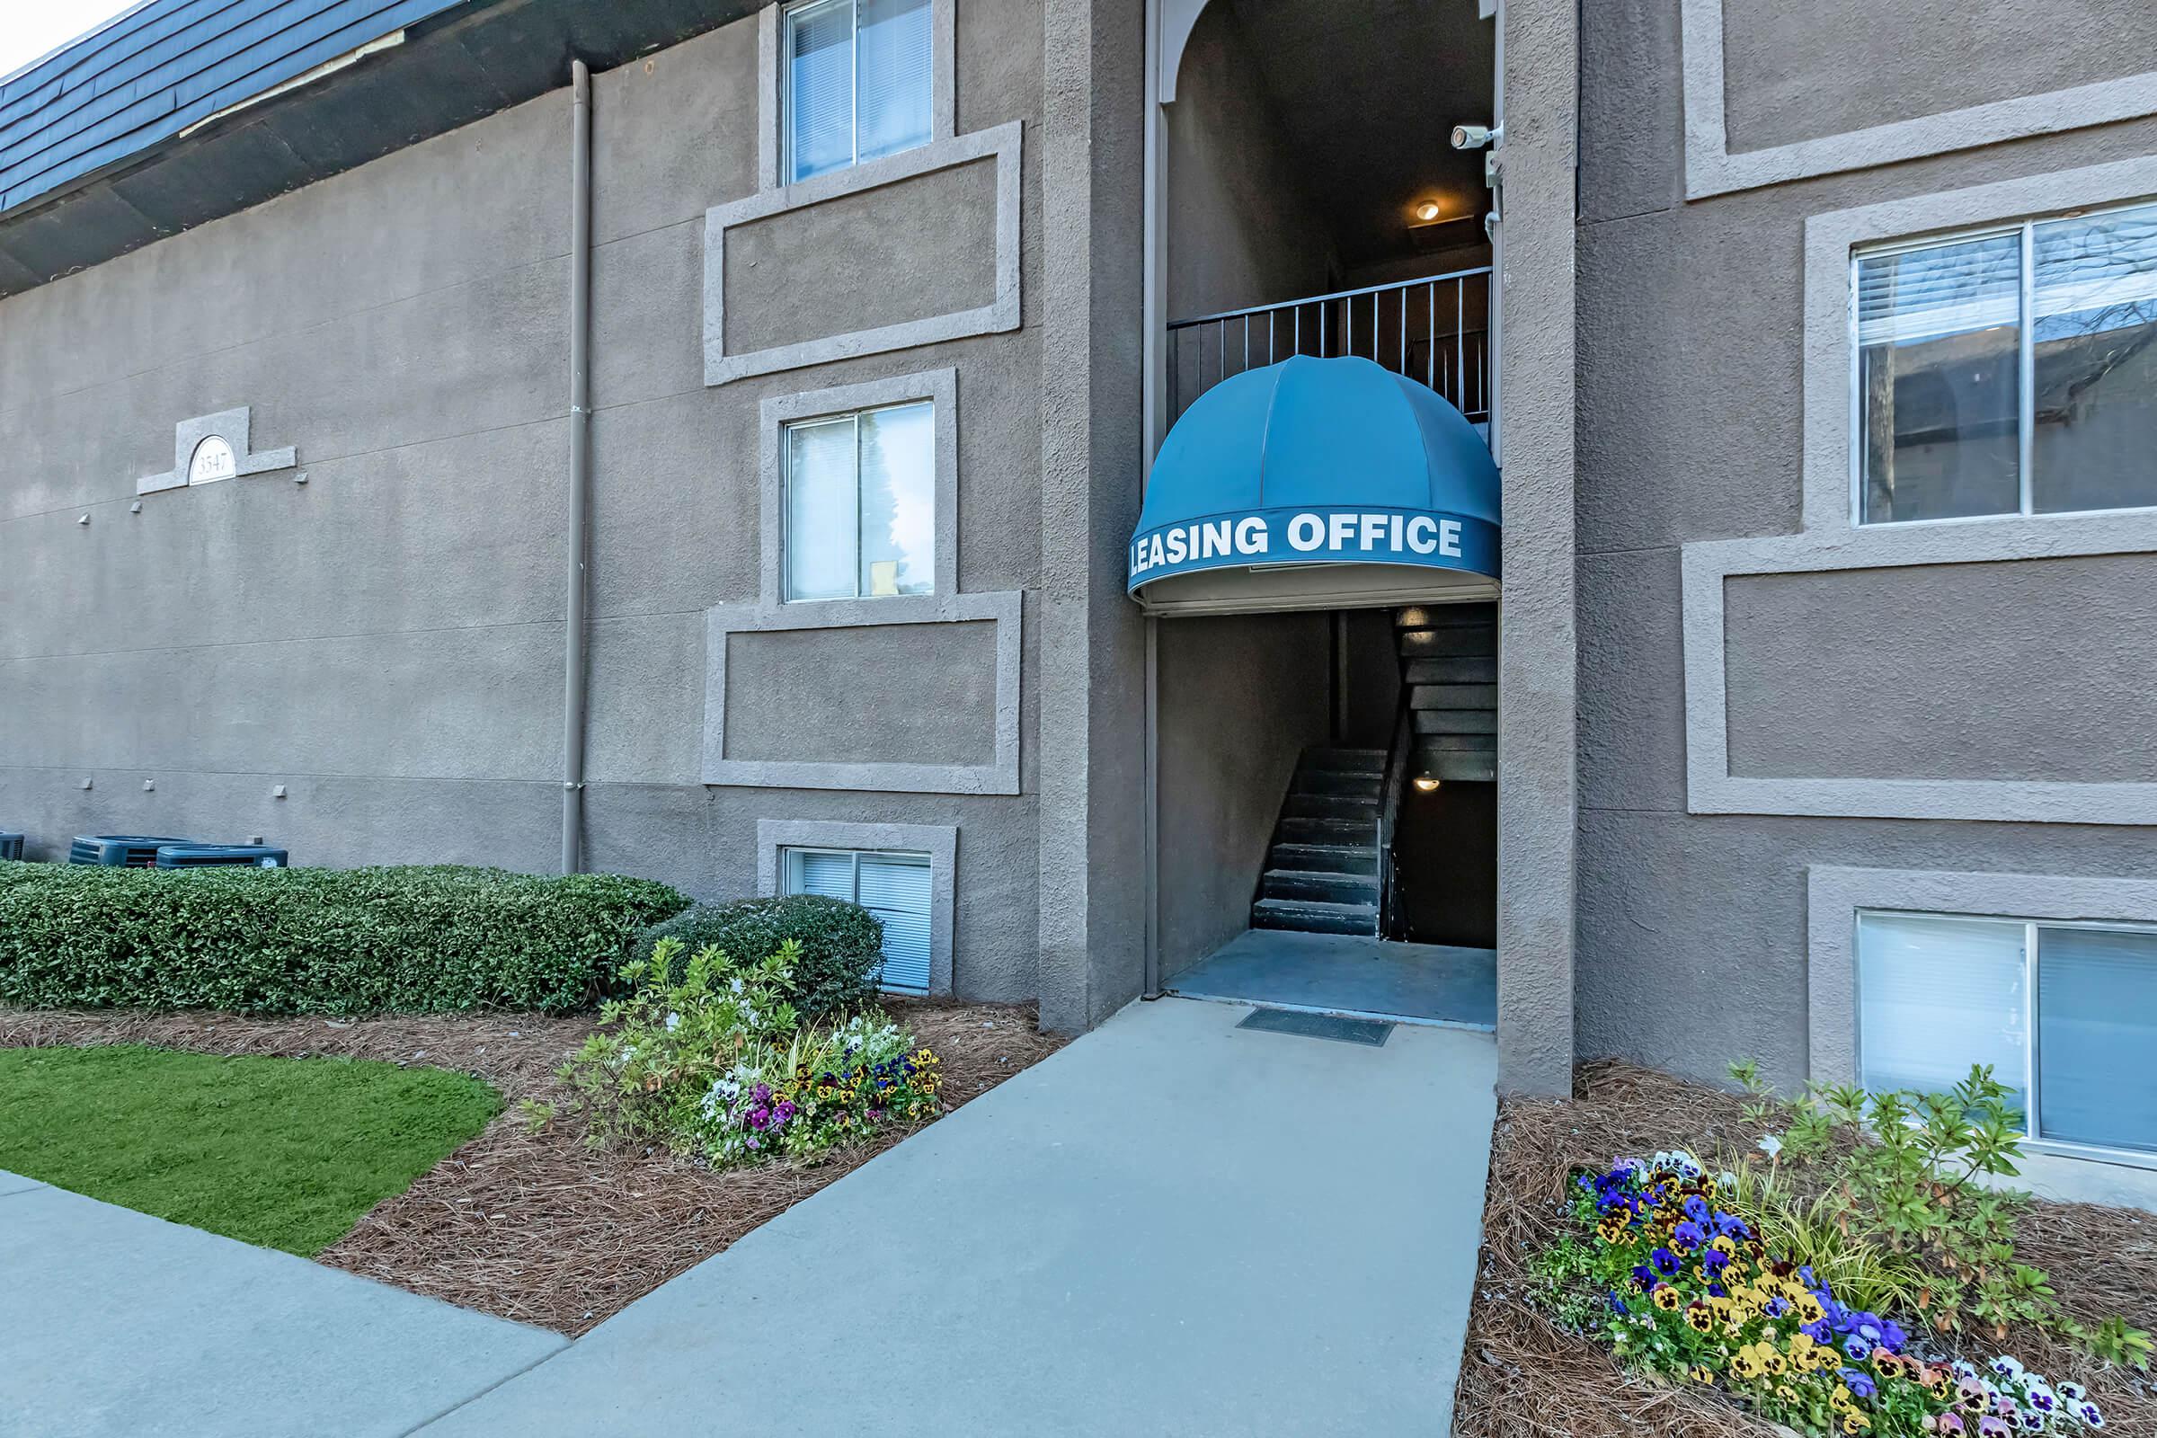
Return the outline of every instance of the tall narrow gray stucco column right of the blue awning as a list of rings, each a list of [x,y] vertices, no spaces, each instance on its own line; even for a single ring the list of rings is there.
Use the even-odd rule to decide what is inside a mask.
[[[1572,535],[1575,0],[1503,0],[1499,384],[1503,569],[1497,1046],[1506,1093],[1572,1089],[1577,623]]]

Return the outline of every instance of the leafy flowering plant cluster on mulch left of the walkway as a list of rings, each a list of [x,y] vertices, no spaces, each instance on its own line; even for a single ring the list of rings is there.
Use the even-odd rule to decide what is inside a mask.
[[[738,964],[679,938],[621,970],[630,992],[563,1065],[589,1138],[664,1143],[716,1166],[813,1158],[940,1110],[938,1061],[882,1013],[805,1024],[798,940]]]

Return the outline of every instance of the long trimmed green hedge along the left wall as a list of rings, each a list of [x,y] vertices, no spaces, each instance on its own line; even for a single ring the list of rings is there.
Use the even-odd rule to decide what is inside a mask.
[[[37,1009],[578,1009],[667,884],[505,869],[101,869],[0,862],[0,1003]]]

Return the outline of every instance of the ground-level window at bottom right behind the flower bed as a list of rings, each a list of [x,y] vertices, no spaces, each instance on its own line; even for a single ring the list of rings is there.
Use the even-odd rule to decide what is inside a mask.
[[[1866,912],[1857,1013],[1866,1089],[1989,1063],[2032,1138],[2157,1156],[2157,929]]]

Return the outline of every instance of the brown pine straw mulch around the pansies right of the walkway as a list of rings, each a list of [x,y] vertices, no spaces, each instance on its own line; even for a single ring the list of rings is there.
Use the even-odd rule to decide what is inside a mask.
[[[1620,1371],[1583,1337],[1523,1302],[1531,1253],[1553,1233],[1575,1169],[1657,1149],[1745,1151],[1758,1128],[1745,1100],[1622,1063],[1590,1063],[1572,1102],[1508,1100],[1490,1136],[1484,1250],[1454,1397],[1456,1438],[1773,1438],[1788,1434],[1702,1388],[1665,1388]],[[2036,1203],[2015,1250],[2051,1274],[2079,1317],[2118,1313],[2157,1330],[2157,1218],[2088,1203]],[[2053,1378],[2075,1378],[2116,1434],[2157,1434],[2157,1386],[2103,1367],[2032,1328],[1980,1354],[2008,1352]]]

